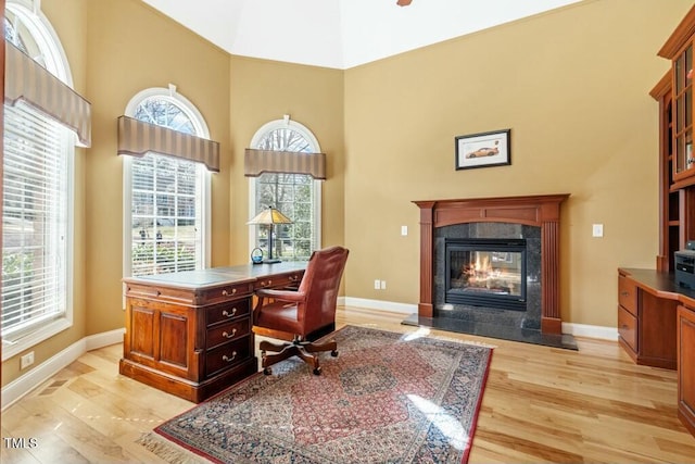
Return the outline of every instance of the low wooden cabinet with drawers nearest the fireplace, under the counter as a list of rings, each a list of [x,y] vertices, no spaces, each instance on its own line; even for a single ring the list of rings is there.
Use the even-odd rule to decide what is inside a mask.
[[[666,280],[654,271],[619,269],[618,340],[635,363],[674,369],[678,299],[662,296],[665,285],[673,288]]]

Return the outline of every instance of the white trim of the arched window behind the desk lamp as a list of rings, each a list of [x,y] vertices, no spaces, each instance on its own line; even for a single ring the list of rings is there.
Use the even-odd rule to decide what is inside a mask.
[[[266,134],[268,134],[269,131],[273,131],[275,129],[283,129],[288,127],[291,128],[292,130],[300,133],[302,137],[304,137],[312,145],[312,151],[316,153],[319,153],[321,151],[320,145],[318,143],[318,139],[308,129],[308,127],[295,121],[291,121],[288,114],[286,114],[282,120],[270,121],[264,124],[263,126],[261,126],[251,138],[250,147],[257,148],[258,143],[261,142],[261,139],[263,139],[263,137],[265,137]],[[256,211],[257,180],[256,180],[256,177],[247,177],[247,178],[249,179],[249,217],[251,218],[258,213],[258,211]],[[316,217],[314,231],[316,234],[315,246],[318,249],[323,247],[323,237],[321,237],[321,229],[323,229],[321,211],[323,211],[323,198],[324,198],[323,185],[324,183],[321,180],[313,179],[312,195],[314,198],[314,211],[312,212],[312,214],[314,215],[314,217]],[[253,226],[253,225],[249,226],[249,253],[251,253],[251,250],[253,250],[256,247],[254,227],[257,227],[257,226]]]

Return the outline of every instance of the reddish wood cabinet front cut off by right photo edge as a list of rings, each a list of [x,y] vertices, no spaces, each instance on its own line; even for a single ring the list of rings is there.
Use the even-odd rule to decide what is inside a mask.
[[[678,308],[678,416],[695,435],[695,309]]]

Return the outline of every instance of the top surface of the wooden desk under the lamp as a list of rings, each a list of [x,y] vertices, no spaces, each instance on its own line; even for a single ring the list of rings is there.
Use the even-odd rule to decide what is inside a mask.
[[[161,285],[179,288],[205,288],[220,285],[243,284],[260,278],[304,271],[306,262],[275,264],[242,264],[240,266],[210,267],[199,271],[157,274],[152,276],[126,277],[129,284]]]

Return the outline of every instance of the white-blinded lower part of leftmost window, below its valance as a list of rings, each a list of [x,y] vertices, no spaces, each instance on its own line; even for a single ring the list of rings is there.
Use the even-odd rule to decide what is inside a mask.
[[[26,104],[4,112],[2,337],[12,339],[66,312],[72,133]]]

